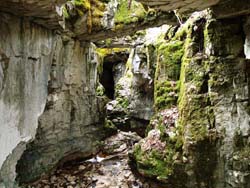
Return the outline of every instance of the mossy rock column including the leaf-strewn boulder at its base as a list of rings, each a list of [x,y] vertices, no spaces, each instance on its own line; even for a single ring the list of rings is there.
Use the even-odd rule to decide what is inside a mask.
[[[154,42],[153,54],[157,62],[154,77],[156,113],[147,128],[146,138],[135,145],[133,159],[144,176],[165,182],[169,187],[183,187],[184,184],[180,183],[184,182],[186,176],[181,171],[182,133],[176,124],[176,105],[184,42],[178,37],[165,40],[172,38],[175,30],[168,27]],[[171,178],[168,179],[169,176]]]

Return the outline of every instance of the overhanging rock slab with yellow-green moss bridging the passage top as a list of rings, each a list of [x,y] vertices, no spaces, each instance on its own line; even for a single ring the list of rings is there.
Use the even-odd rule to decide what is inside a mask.
[[[135,11],[135,9],[140,11]],[[48,29],[78,38],[97,41],[114,36],[125,36],[138,29],[162,24],[177,24],[173,13],[146,12],[142,5],[132,1],[131,9],[125,0],[3,0],[0,11],[28,17]],[[140,12],[136,14],[134,12]],[[129,13],[129,14],[128,14]],[[125,18],[125,19],[124,19]]]

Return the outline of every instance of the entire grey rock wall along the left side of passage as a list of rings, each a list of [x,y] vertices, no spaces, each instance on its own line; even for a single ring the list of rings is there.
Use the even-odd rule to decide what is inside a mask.
[[[7,14],[0,23],[1,180],[9,188],[15,173],[32,181],[67,155],[95,152],[104,105],[90,46]]]

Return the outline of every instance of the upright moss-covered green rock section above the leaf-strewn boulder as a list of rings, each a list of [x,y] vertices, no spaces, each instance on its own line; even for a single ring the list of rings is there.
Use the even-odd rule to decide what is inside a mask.
[[[158,46],[158,62],[155,73],[155,108],[170,108],[177,104],[184,43],[174,40]]]

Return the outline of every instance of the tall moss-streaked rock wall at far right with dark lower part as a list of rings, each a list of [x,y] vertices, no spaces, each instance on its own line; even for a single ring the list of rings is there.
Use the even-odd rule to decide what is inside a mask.
[[[249,145],[249,75],[242,25],[241,19],[208,18],[204,32],[199,35],[194,27],[186,43],[179,109],[188,187],[249,186],[249,158],[243,154]]]

